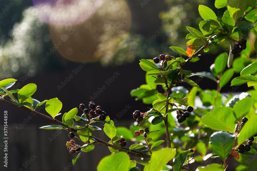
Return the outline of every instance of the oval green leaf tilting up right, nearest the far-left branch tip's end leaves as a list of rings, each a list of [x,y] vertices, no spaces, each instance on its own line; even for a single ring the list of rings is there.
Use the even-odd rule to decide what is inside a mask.
[[[23,102],[27,98],[29,98],[36,91],[36,84],[27,84],[22,87],[18,92],[18,99],[20,102]]]

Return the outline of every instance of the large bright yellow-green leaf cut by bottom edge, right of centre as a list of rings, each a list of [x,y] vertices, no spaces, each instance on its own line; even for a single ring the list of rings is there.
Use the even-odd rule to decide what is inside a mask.
[[[147,171],[160,171],[176,155],[176,150],[168,148],[154,151],[149,161]],[[174,165],[173,165],[174,166]]]

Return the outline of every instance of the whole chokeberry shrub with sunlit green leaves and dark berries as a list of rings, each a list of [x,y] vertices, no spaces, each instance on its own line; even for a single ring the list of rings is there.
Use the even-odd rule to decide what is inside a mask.
[[[81,153],[93,150],[94,144],[98,143],[107,146],[112,153],[100,160],[97,166],[99,171],[109,167],[115,167],[114,170],[140,170],[137,164],[149,171],[219,171],[229,167],[232,158],[238,170],[241,166],[244,169],[250,167],[240,158],[256,155],[257,62],[250,58],[251,46],[246,40],[246,33],[249,30],[255,35],[257,33],[254,27],[257,1],[216,0],[215,6],[227,9],[223,16],[216,16],[212,9],[199,5],[203,21],[199,23],[200,31],[187,27],[187,50],[170,47],[178,53],[178,57],[161,54],[154,59],[140,60],[140,67],[146,71],[146,84],[132,90],[131,96],[136,97],[137,101],[152,104],[152,108],[146,109],[146,112],[136,110],[131,113],[135,122],[129,129],[116,128],[108,111],[96,107],[95,102],[89,102],[88,109],[84,104],[78,105],[81,111],[75,107],[64,113],[62,120],[58,121],[55,117],[61,114],[62,108],[58,98],[42,102],[32,99],[36,91],[33,83],[20,90],[8,91],[17,81],[15,79],[0,81],[0,101],[29,110],[58,124],[43,126],[42,129],[67,130],[67,149],[72,155],[77,153],[72,160],[74,165]],[[185,65],[194,65],[200,58],[206,58],[200,56],[202,51],[208,52],[210,46],[218,46],[223,41],[230,45],[230,50],[217,56],[210,65],[210,72],[201,71],[201,68],[197,73],[184,69]],[[257,41],[254,47],[257,50]],[[233,59],[234,55],[238,55],[238,58]],[[232,79],[234,73],[240,73],[240,76]],[[211,79],[217,89],[203,90],[197,81],[192,81],[195,78],[198,81]],[[181,83],[188,83],[192,88],[186,89]],[[232,92],[229,95],[222,94],[221,89],[228,83],[237,87],[247,84],[253,89],[235,96]],[[162,90],[157,89],[157,85]],[[14,93],[17,93],[18,99],[13,96]],[[195,105],[197,95],[202,106]],[[7,96],[11,102],[4,99]],[[35,111],[44,103],[50,116]],[[81,125],[74,126],[74,120],[81,122]],[[94,126],[94,122],[102,122],[103,128]],[[102,129],[109,137],[109,142],[93,136],[92,131]],[[165,140],[161,140],[163,137],[166,137]],[[128,147],[126,141],[134,143]],[[139,160],[130,160],[130,155],[139,157]],[[210,157],[219,158],[221,164],[190,167],[191,163],[204,163]],[[116,159],[120,162],[114,165]]]

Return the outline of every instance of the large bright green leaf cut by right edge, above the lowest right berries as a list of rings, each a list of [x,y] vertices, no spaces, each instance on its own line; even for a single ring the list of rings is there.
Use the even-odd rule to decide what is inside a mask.
[[[257,134],[257,115],[249,119],[245,124],[244,127],[241,129],[240,134],[238,136],[238,145],[242,144],[244,140],[252,137],[253,135]]]

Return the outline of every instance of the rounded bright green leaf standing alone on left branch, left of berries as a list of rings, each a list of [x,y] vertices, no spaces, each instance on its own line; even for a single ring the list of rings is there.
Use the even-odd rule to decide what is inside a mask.
[[[60,112],[62,109],[62,102],[58,98],[50,99],[45,103],[45,110],[53,118]]]

